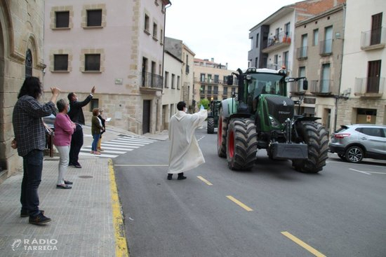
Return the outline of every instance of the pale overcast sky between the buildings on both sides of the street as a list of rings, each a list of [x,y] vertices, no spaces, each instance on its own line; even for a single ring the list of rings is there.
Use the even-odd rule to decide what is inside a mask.
[[[300,1],[300,0],[298,0]],[[249,29],[295,0],[171,0],[165,34],[182,40],[196,58],[246,69]]]

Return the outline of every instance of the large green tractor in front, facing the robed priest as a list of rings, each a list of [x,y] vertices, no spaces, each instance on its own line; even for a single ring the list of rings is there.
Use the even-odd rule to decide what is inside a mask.
[[[299,172],[317,173],[328,158],[328,132],[315,120],[295,114],[295,102],[287,97],[286,69],[237,69],[228,76],[238,81],[238,95],[222,100],[218,117],[218,156],[227,158],[229,169],[253,167],[258,149],[266,149],[273,160],[292,160]],[[300,102],[298,103],[300,107]]]

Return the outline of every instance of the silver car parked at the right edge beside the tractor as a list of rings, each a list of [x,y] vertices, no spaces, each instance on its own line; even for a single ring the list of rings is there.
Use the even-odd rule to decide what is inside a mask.
[[[341,125],[331,135],[328,148],[347,162],[359,163],[363,158],[386,160],[386,125]]]

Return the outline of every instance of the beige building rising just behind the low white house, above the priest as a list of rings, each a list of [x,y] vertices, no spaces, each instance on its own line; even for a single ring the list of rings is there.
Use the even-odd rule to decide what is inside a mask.
[[[193,64],[196,55],[182,40],[165,37],[165,50],[182,60],[181,97],[180,101],[187,104],[188,111],[194,109],[193,102]],[[165,63],[165,66],[167,64]]]

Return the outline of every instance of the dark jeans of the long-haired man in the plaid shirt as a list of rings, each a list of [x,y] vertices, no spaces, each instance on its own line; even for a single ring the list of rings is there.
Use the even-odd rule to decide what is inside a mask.
[[[23,156],[24,175],[22,177],[22,192],[20,202],[22,209],[29,211],[29,216],[39,214],[39,195],[37,190],[41,182],[43,170],[43,151],[32,150]]]

